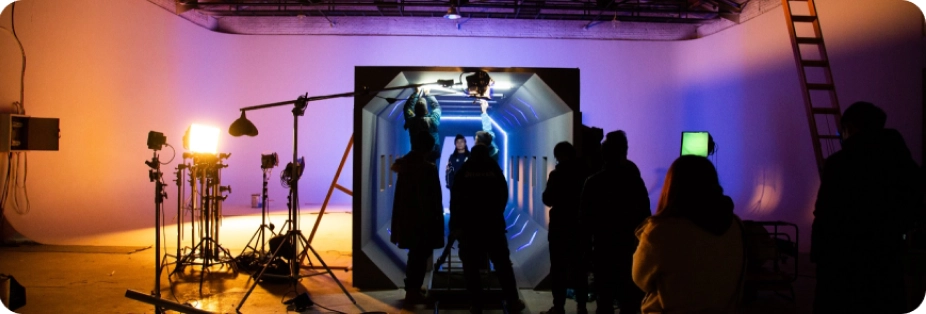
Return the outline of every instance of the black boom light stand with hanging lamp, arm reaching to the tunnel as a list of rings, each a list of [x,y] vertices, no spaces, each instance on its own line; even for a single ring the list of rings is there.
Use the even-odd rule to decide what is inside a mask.
[[[405,88],[411,88],[411,87],[420,87],[420,86],[431,85],[431,84],[435,84],[435,83],[411,84],[411,85],[404,85],[404,86],[389,87],[385,89],[380,89],[377,92],[387,91],[387,90],[405,89]],[[454,83],[453,83],[453,80],[438,80],[436,84],[440,84],[443,86],[450,86],[450,85],[453,85]],[[366,87],[364,87],[364,90],[360,92],[369,93],[371,91],[368,90]],[[341,281],[338,280],[337,277],[335,277],[334,273],[331,272],[331,268],[329,268],[328,265],[325,264],[325,261],[322,260],[321,256],[318,255],[318,252],[316,252],[315,249],[312,248],[309,241],[306,240],[305,236],[302,235],[302,231],[299,229],[299,224],[298,224],[298,219],[297,219],[299,215],[299,174],[300,174],[299,172],[300,172],[300,167],[305,167],[305,165],[304,164],[300,165],[298,162],[298,152],[299,152],[299,140],[298,139],[299,139],[299,117],[305,115],[305,109],[308,106],[308,103],[310,101],[317,101],[317,100],[324,100],[324,99],[331,99],[331,98],[341,98],[341,97],[353,97],[357,93],[358,92],[355,91],[355,92],[333,94],[333,95],[326,95],[326,96],[314,96],[314,97],[308,97],[306,94],[306,95],[299,96],[299,98],[297,98],[296,100],[257,105],[257,106],[251,106],[251,107],[244,107],[240,109],[241,117],[235,120],[235,122],[233,122],[232,125],[228,129],[228,133],[236,137],[242,136],[242,135],[257,136],[258,134],[257,127],[255,127],[254,124],[247,119],[247,117],[245,116],[245,112],[250,111],[250,110],[257,110],[257,109],[264,109],[264,108],[271,108],[271,107],[278,107],[278,106],[285,106],[285,105],[294,106],[292,110],[293,112],[293,159],[292,159],[292,168],[291,168],[291,177],[290,177],[291,182],[290,182],[290,192],[289,192],[289,196],[290,196],[289,225],[288,225],[289,231],[287,231],[284,236],[283,244],[279,245],[276,248],[273,248],[274,250],[273,250],[273,253],[270,255],[270,260],[273,260],[274,257],[279,255],[280,250],[286,247],[285,244],[287,243],[290,244],[290,247],[287,248],[291,250],[290,251],[291,254],[289,255],[291,257],[289,259],[289,275],[285,277],[291,280],[293,287],[295,288],[296,283],[298,282],[299,278],[304,277],[299,274],[299,270],[300,270],[299,265],[301,264],[302,259],[308,255],[306,250],[312,251],[312,254],[315,255],[315,258],[317,258],[318,261],[322,264],[322,267],[325,269],[325,272],[331,275],[331,278],[334,279],[335,283],[337,283],[338,286],[341,287],[341,291],[343,291],[344,294],[354,304],[357,304],[357,301],[354,300],[354,298],[350,295],[349,292],[347,292],[347,289],[344,288],[344,285],[341,284]],[[320,213],[317,219],[321,219],[321,214],[323,213]],[[318,227],[318,225],[316,224],[315,227]],[[313,230],[312,233],[314,234],[315,231]],[[302,253],[297,254],[298,246],[300,243],[303,246],[303,251]],[[258,275],[255,277],[254,283],[251,285],[251,288],[248,289],[248,292],[245,293],[244,298],[241,300],[241,303],[239,303],[238,307],[235,308],[235,310],[238,313],[241,312],[241,307],[244,305],[244,302],[247,301],[248,297],[251,295],[251,292],[254,291],[254,288],[257,287],[257,284],[260,282],[263,276],[268,275],[266,274],[266,271],[269,266],[270,266],[270,263],[267,263],[267,265],[264,265],[260,273],[258,273]],[[318,275],[318,274],[313,274],[313,275]]]

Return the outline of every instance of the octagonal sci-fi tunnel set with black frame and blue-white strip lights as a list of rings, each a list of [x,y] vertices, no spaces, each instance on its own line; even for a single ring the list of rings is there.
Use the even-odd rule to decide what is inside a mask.
[[[443,187],[444,167],[453,138],[462,134],[472,147],[482,130],[481,110],[464,92],[464,76],[487,72],[495,82],[487,114],[499,148],[499,166],[508,181],[505,211],[508,246],[518,286],[534,288],[549,272],[548,209],[541,201],[547,174],[555,167],[553,146],[576,144],[579,111],[579,70],[556,68],[356,67],[356,90],[385,90],[354,98],[354,286],[391,289],[403,286],[406,252],[389,242],[396,175],[390,166],[411,145],[403,128],[402,107],[415,92],[401,86],[452,79],[457,85],[430,85],[442,108],[438,160],[445,222],[449,190]],[[463,85],[460,85],[462,81]],[[440,252],[440,251],[436,251]]]

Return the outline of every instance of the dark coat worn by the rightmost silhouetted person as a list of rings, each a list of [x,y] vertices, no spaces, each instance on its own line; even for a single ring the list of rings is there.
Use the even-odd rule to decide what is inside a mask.
[[[811,230],[814,262],[896,254],[922,191],[916,162],[900,133],[885,129],[850,137],[826,159]]]

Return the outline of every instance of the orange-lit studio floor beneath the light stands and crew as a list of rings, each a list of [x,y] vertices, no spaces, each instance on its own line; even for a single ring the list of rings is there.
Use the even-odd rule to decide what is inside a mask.
[[[316,213],[307,213],[301,223],[309,228],[317,218]],[[332,266],[348,292],[357,301],[353,304],[341,291],[336,282],[322,272],[318,276],[304,277],[296,287],[298,293],[308,292],[315,306],[302,313],[433,313],[433,308],[419,306],[408,311],[402,310],[403,290],[360,291],[352,285],[352,275],[344,268],[351,266],[352,215],[347,211],[324,215],[313,248],[322,256],[325,263]],[[285,220],[279,213],[270,218],[278,225]],[[167,221],[175,221],[168,219]],[[249,239],[260,225],[260,215],[229,216],[223,219],[221,237],[223,246],[232,257],[237,257],[248,244]],[[183,227],[186,230],[186,226]],[[188,238],[189,230],[184,231],[187,238],[181,247],[193,246]],[[177,228],[168,225],[164,229],[166,248],[161,251],[175,255],[177,247]],[[16,310],[17,313],[153,313],[154,306],[125,297],[126,290],[136,290],[150,294],[155,290],[155,249],[150,247],[150,238],[155,234],[153,228],[129,230],[118,234],[103,234],[93,238],[79,239],[79,243],[90,245],[39,245],[39,246],[0,246],[0,274],[12,275],[26,288],[26,305]],[[78,240],[73,240],[78,241]],[[70,243],[66,243],[70,244]],[[142,246],[139,246],[142,244]],[[133,246],[134,245],[134,246]],[[771,292],[758,293],[755,301],[745,304],[745,313],[809,313],[813,300],[813,268],[808,259],[802,258],[799,265],[800,275],[793,283],[796,298],[790,301]],[[167,258],[168,263],[175,261]],[[320,265],[314,258],[313,265]],[[793,266],[791,266],[793,267]],[[234,272],[229,267],[213,266],[205,273],[200,291],[200,266],[190,266],[182,272],[170,275],[174,265],[169,265],[161,276],[161,298],[177,304],[189,304],[193,307],[217,313],[234,313],[245,298],[253,281],[246,272]],[[314,269],[304,269],[304,274],[318,273]],[[524,313],[539,313],[552,305],[549,291],[522,289],[522,299],[527,304]],[[261,283],[256,286],[243,305],[242,313],[294,313],[282,301],[296,295],[291,284]],[[468,313],[468,307],[441,306],[440,312]],[[575,303],[567,301],[567,312],[574,312]],[[588,309],[594,312],[595,305]],[[502,313],[501,310],[487,311]],[[2,313],[2,310],[0,310]]]

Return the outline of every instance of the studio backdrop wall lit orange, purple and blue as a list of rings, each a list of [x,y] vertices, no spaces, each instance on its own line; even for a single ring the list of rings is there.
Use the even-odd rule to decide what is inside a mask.
[[[923,15],[900,0],[819,0],[818,11],[842,105],[867,100],[884,108],[888,126],[922,160]],[[6,211],[38,242],[150,242],[91,239],[153,224],[147,133],[165,133],[179,159],[180,138],[194,122],[223,130],[219,150],[232,156],[222,181],[233,187],[225,210],[249,212],[250,195],[261,188],[260,154],[289,159],[292,115],[287,108],[249,112],[260,136],[232,138],[225,130],[237,109],[350,91],[355,66],[579,68],[584,123],[627,131],[629,157],[654,205],[680,132],[706,130],[718,143],[714,160],[737,214],[794,222],[810,234],[819,180],[781,8],[676,42],[236,36],[142,0],[24,0],[15,18],[28,58],[27,114],[61,119],[60,151],[28,153],[29,211]],[[0,26],[10,29],[9,7]],[[15,41],[0,33],[2,112],[19,98],[18,60]],[[300,119],[300,155],[310,163],[300,184],[303,208],[323,201],[351,136],[352,106],[350,98],[311,103]],[[161,156],[170,159],[170,149]],[[176,164],[164,167],[168,213],[176,206]],[[341,184],[351,186],[350,178],[348,163]],[[286,191],[277,181],[271,209],[283,211]],[[335,193],[332,202],[350,199]],[[802,237],[802,250],[808,240]]]

